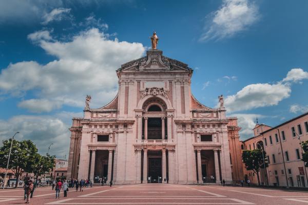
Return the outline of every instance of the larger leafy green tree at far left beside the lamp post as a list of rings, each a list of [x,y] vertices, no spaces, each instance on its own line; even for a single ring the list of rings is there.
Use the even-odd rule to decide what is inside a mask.
[[[4,140],[3,146],[0,148],[0,167],[6,167],[10,152],[12,139]],[[37,153],[36,146],[31,140],[13,140],[12,152],[9,161],[9,169],[11,169],[16,177],[15,188],[18,185],[18,179],[24,170],[29,169],[28,165],[33,161],[33,156]]]

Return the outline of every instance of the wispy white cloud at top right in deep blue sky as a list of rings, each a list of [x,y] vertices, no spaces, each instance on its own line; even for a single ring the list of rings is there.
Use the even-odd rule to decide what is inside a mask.
[[[258,6],[249,0],[224,0],[212,15],[201,41],[232,37],[254,24],[260,16]]]

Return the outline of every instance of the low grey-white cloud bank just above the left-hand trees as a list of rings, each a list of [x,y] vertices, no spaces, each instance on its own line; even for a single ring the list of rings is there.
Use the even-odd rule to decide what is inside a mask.
[[[7,121],[0,120],[0,141],[9,139],[18,131],[17,140],[31,139],[41,154],[46,154],[48,146],[53,143],[49,153],[62,157],[68,154],[69,127],[53,116],[18,115]]]

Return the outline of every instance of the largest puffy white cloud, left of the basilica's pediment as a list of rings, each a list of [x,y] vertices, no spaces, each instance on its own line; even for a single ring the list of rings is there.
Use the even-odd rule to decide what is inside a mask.
[[[62,105],[83,107],[87,94],[92,96],[92,108],[101,107],[117,94],[115,70],[145,51],[140,43],[110,39],[96,28],[81,32],[68,42],[48,40],[41,34],[29,36],[57,59],[46,65],[36,61],[10,64],[0,74],[0,94],[23,96],[35,90],[37,99],[19,104],[33,112]],[[40,105],[44,102],[49,106]]]

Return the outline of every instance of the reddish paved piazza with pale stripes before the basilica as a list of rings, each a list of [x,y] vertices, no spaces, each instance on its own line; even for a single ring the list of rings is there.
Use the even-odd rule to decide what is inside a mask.
[[[55,199],[51,188],[35,190],[31,204],[308,204],[308,192],[247,187],[125,185],[93,187]],[[21,204],[23,190],[1,190],[0,204]]]

